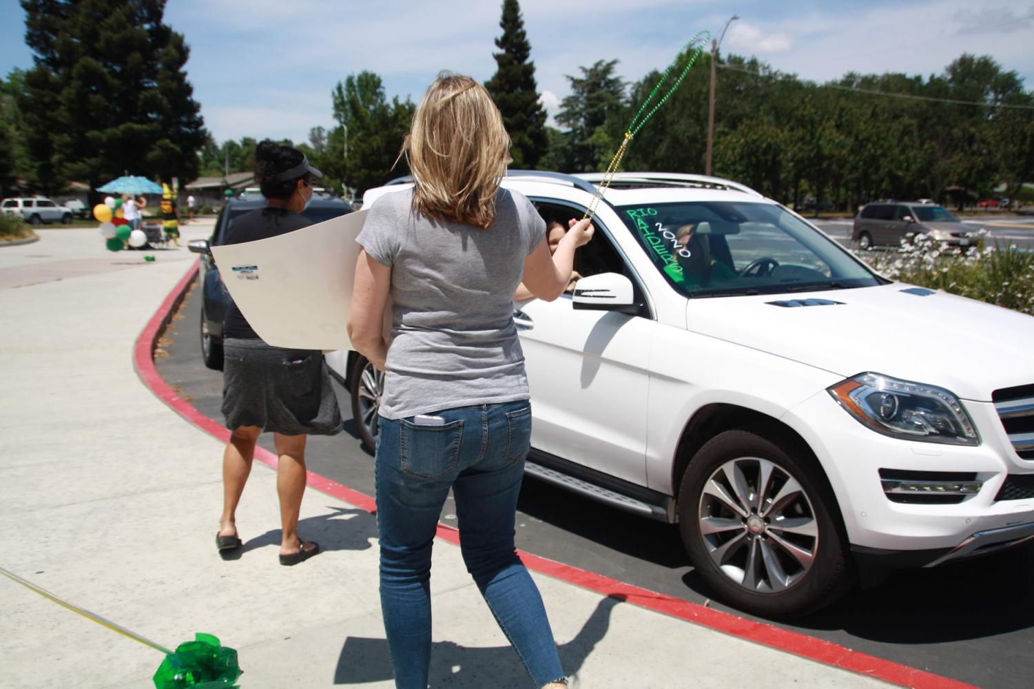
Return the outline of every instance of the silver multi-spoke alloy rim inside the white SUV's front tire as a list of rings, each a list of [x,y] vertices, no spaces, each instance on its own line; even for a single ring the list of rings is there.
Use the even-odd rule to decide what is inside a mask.
[[[739,457],[711,474],[700,496],[700,535],[711,562],[752,593],[780,593],[815,563],[819,526],[808,493],[769,459]]]

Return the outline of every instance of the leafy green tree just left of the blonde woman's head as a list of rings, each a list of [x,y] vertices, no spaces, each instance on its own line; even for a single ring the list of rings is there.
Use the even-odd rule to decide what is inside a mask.
[[[362,191],[409,174],[405,158],[399,157],[416,110],[408,98],[388,100],[381,78],[361,71],[337,83],[331,102],[338,126],[317,163],[329,180]]]

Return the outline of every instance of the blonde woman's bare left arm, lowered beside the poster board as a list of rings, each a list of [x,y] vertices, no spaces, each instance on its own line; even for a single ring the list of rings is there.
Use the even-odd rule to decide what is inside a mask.
[[[391,268],[359,251],[356,281],[348,312],[348,339],[356,351],[378,369],[385,369],[388,343],[384,337],[385,305],[391,291]]]

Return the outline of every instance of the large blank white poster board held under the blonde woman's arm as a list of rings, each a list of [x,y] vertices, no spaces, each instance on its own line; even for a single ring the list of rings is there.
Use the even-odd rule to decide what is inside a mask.
[[[356,237],[365,220],[363,210],[278,237],[211,247],[230,296],[267,344],[352,349],[345,325],[362,248]]]

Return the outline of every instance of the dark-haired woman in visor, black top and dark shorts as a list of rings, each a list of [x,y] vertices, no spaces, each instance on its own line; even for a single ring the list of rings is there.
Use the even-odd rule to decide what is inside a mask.
[[[266,206],[234,218],[222,243],[267,239],[311,224],[301,212],[312,198],[312,178],[322,176],[300,151],[270,141],[258,144],[255,180]],[[298,535],[305,492],[305,440],[308,435],[330,436],[341,429],[330,376],[321,352],[264,342],[233,302],[222,337],[222,414],[231,437],[222,455],[223,506],[216,546],[220,555],[241,546],[237,505],[251,472],[255,441],[263,431],[270,431],[279,455],[280,564],[297,565],[320,551],[317,543]]]

